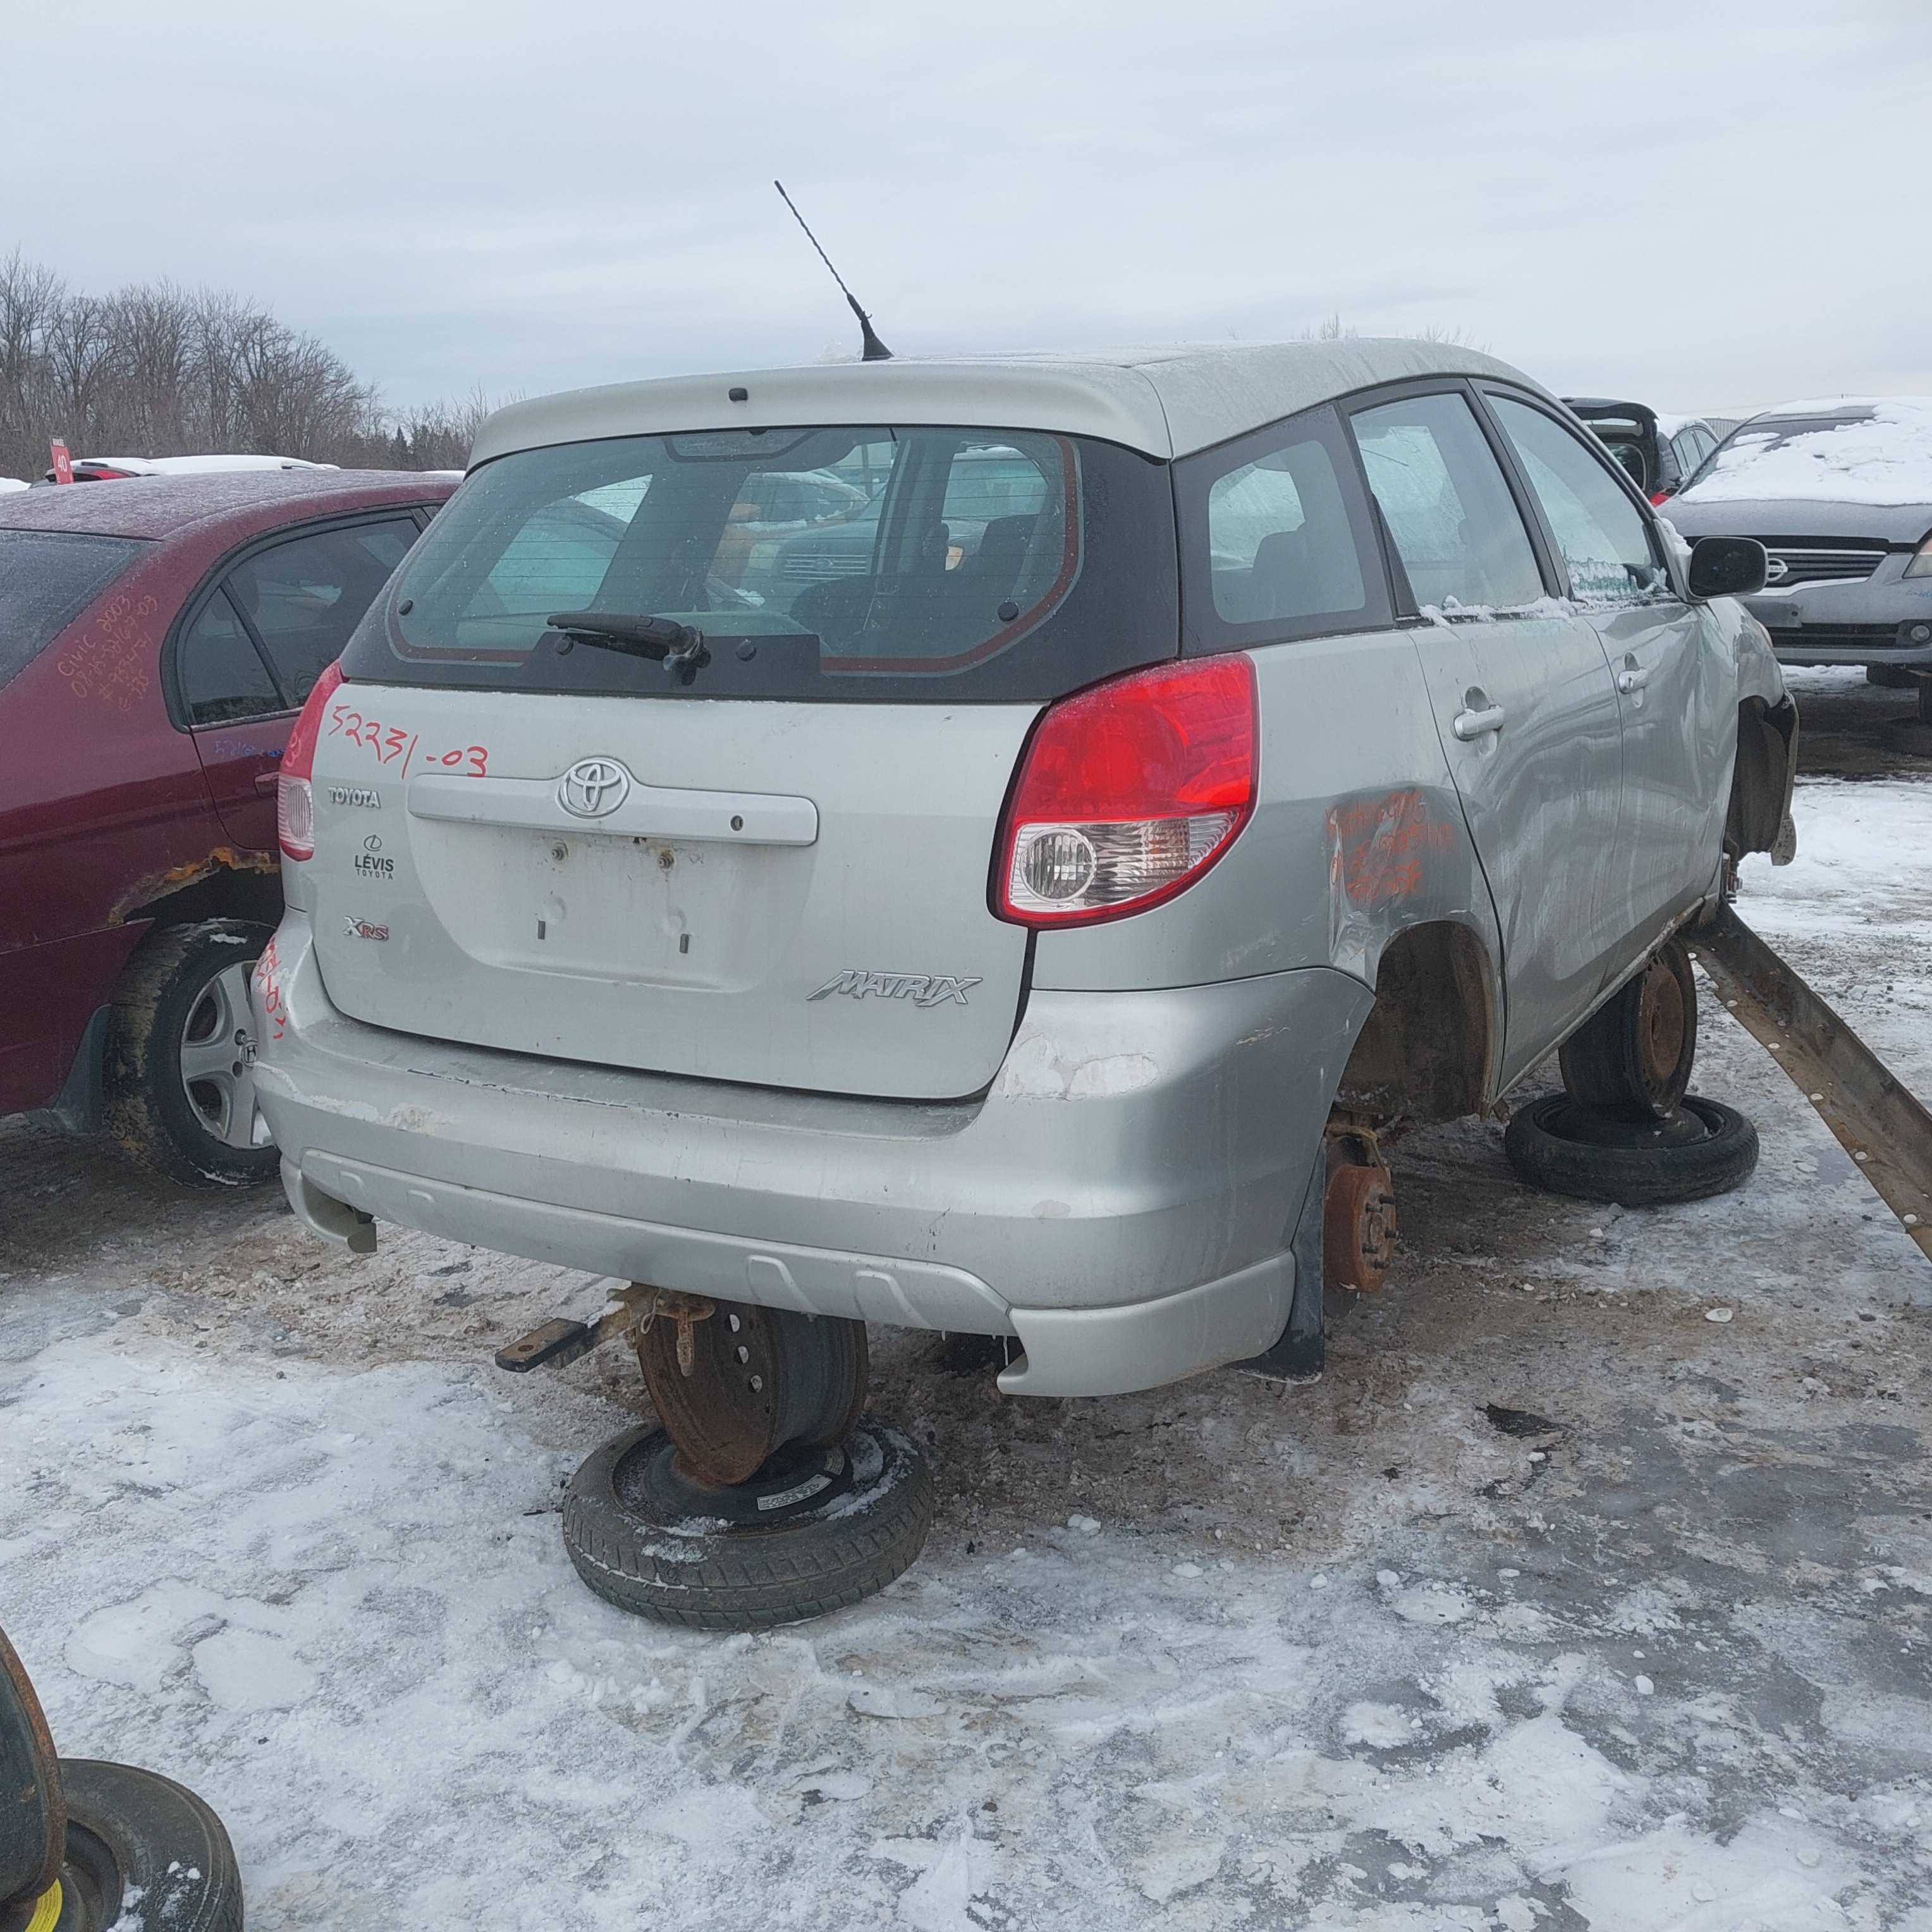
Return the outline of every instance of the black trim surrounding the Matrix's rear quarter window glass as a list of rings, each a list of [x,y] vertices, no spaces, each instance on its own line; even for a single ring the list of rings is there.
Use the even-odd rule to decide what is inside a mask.
[[[1175,535],[1180,556],[1180,655],[1213,657],[1223,651],[1260,651],[1275,643],[1306,643],[1312,638],[1354,638],[1362,632],[1391,630],[1397,620],[1395,585],[1389,578],[1389,556],[1383,549],[1381,512],[1362,475],[1354,437],[1343,423],[1339,400],[1318,402],[1293,415],[1281,415],[1260,429],[1244,429],[1238,437],[1190,450],[1171,464],[1175,491]],[[1312,427],[1314,437],[1296,431]],[[1327,450],[1341,489],[1349,533],[1354,537],[1356,560],[1362,566],[1366,603],[1360,611],[1320,611],[1300,618],[1260,618],[1236,624],[1221,616],[1213,603],[1213,585],[1198,558],[1208,556],[1208,497],[1221,477],[1267,456],[1289,440],[1318,440]],[[1379,568],[1378,568],[1379,564]]]

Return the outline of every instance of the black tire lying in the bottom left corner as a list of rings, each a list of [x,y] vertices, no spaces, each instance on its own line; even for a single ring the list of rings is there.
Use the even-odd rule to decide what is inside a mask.
[[[158,1772],[93,1758],[62,1758],[60,1781],[68,1847],[56,1932],[104,1932],[118,1920],[168,1932],[242,1932],[234,1847],[193,1791]]]

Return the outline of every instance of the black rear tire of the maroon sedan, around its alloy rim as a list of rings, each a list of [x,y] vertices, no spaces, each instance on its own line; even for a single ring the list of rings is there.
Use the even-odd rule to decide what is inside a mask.
[[[170,925],[135,952],[122,978],[108,1030],[106,1130],[124,1153],[168,1180],[238,1186],[280,1171],[274,1148],[232,1148],[216,1138],[182,1072],[184,1034],[203,997],[236,966],[245,985],[269,937],[267,925],[245,920]],[[253,1020],[238,1018],[253,1036]],[[253,1117],[245,1072],[234,1092]]]

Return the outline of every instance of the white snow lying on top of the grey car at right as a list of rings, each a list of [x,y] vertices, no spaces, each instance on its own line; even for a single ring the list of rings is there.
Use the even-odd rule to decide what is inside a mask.
[[[1932,398],[1897,396],[1866,404],[1783,404],[1777,417],[1839,415],[1870,410],[1870,419],[1781,435],[1774,421],[1752,423],[1725,444],[1710,475],[1677,500],[1932,504]]]

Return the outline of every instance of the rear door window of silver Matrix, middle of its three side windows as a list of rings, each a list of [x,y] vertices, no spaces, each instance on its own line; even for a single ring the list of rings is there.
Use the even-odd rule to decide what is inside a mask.
[[[1530,533],[1461,394],[1356,410],[1350,427],[1418,609],[1507,611],[1544,595]]]

